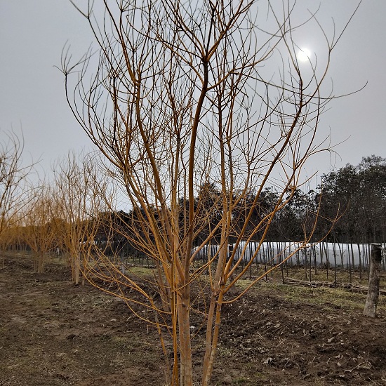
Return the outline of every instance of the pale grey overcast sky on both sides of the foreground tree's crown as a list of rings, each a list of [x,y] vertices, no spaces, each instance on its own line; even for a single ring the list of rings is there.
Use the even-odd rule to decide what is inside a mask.
[[[85,1],[82,1],[83,4]],[[341,26],[355,0],[299,0],[298,8],[321,6],[319,21],[331,32],[331,18]],[[299,7],[300,6],[300,7]],[[321,130],[332,133],[340,159],[327,155],[311,161],[307,173],[357,165],[371,154],[386,157],[386,1],[364,0],[333,55],[334,93],[355,95],[335,100],[321,117]],[[330,30],[328,30],[330,28]],[[301,36],[312,49],[313,34]],[[26,157],[48,169],[69,149],[89,149],[89,141],[65,102],[60,54],[66,41],[80,55],[92,41],[84,18],[67,0],[0,0],[0,138],[13,129],[24,133]]]

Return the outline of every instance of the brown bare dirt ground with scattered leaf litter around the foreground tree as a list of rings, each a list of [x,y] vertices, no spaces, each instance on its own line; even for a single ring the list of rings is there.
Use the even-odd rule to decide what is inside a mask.
[[[223,308],[213,385],[386,385],[385,307],[367,319],[355,303],[364,295],[321,302],[318,290],[299,291],[262,284]],[[197,377],[203,347],[198,331]],[[123,301],[74,286],[60,264],[34,274],[29,260],[6,258],[0,385],[164,386],[163,363],[156,331]]]

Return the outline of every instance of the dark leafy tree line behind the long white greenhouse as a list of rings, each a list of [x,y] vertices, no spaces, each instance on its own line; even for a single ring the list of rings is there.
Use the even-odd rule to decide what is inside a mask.
[[[237,238],[239,229],[247,222],[248,229],[253,229],[272,213],[279,200],[279,193],[274,187],[262,191],[256,203],[253,202],[255,192],[243,194],[233,200],[238,201],[232,211],[232,228],[229,241]],[[203,203],[199,206],[198,203]],[[180,199],[178,208],[180,222],[184,222],[187,201]],[[200,187],[195,199],[196,211],[210,213],[210,218],[195,237],[194,244],[199,245],[211,233],[211,228],[220,222],[222,194],[214,184]],[[253,215],[246,220],[246,213],[251,210]],[[137,227],[141,208],[128,213],[116,213],[121,226]],[[305,232],[315,227],[313,239],[324,239],[339,243],[372,243],[386,241],[386,159],[372,155],[363,157],[357,166],[347,164],[337,171],[322,175],[321,184],[315,189],[305,192],[295,189],[288,204],[274,215],[267,234],[267,241],[299,241]],[[318,221],[315,220],[318,217]],[[338,217],[331,228],[331,222]],[[252,241],[259,241],[261,232],[253,234]],[[134,236],[133,236],[134,237]],[[220,231],[215,232],[211,244],[219,244]]]

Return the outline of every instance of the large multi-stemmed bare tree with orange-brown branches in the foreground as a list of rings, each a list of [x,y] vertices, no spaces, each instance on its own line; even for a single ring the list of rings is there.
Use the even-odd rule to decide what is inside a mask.
[[[222,305],[247,291],[229,291],[253,262],[238,269],[244,241],[258,237],[260,248],[274,215],[302,185],[307,159],[328,150],[317,130],[333,97],[322,95],[321,85],[340,34],[329,40],[313,14],[293,24],[292,1],[117,0],[92,2],[86,10],[72,3],[88,21],[99,56],[89,51],[73,63],[63,51],[67,100],[125,187],[132,207],[126,236],[152,258],[157,272],[144,281],[111,264],[107,274],[133,311],[138,303],[153,311],[147,321],[157,326],[161,342],[164,328],[170,334],[173,385],[192,385],[190,327],[192,317],[201,315],[201,381],[208,385]],[[316,58],[298,62],[295,34],[307,22],[325,39],[323,67]],[[250,227],[269,184],[279,192],[277,202]],[[234,208],[246,197],[245,225],[234,227]],[[313,230],[305,232],[304,245]],[[197,262],[208,243],[218,246],[215,253]],[[205,288],[192,298],[197,283]],[[149,288],[157,288],[161,304]],[[130,295],[135,291],[140,300]]]

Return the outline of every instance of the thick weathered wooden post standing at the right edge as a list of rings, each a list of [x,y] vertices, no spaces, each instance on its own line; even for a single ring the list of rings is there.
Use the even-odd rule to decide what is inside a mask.
[[[378,305],[380,265],[382,262],[382,245],[371,244],[370,276],[368,278],[368,293],[364,306],[364,316],[375,318]]]

